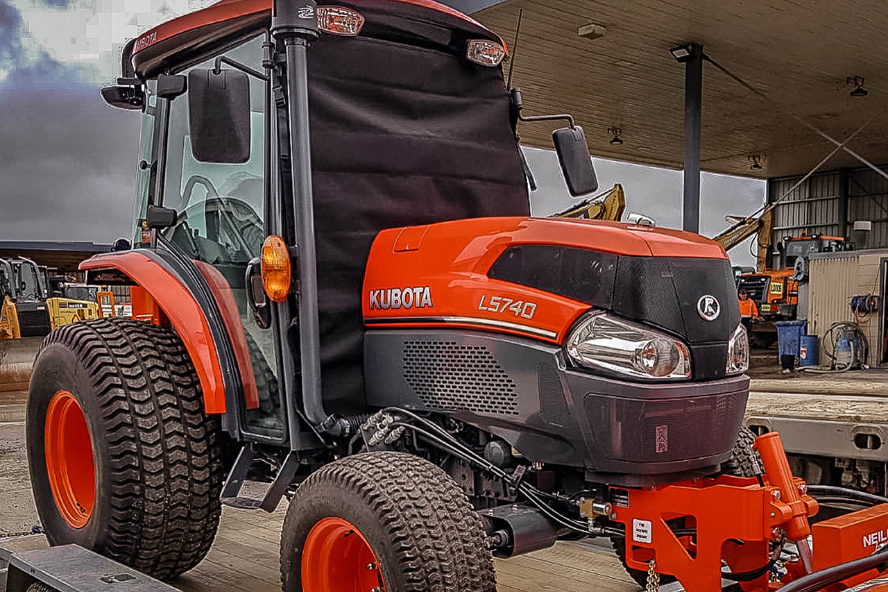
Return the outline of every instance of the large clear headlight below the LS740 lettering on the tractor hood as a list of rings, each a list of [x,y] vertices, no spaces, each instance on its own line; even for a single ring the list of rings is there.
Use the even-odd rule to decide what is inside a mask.
[[[646,380],[691,378],[681,341],[606,313],[583,316],[567,336],[567,355],[581,366]]]

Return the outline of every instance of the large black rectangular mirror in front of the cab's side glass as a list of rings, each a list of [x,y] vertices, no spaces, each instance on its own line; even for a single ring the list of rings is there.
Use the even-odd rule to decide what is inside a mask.
[[[191,152],[203,163],[250,160],[250,80],[236,70],[188,73]]]

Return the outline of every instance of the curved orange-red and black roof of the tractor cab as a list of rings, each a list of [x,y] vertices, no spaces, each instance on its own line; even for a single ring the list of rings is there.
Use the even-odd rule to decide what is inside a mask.
[[[185,68],[254,36],[269,26],[273,2],[221,0],[152,28],[123,48],[123,77],[146,80]],[[464,52],[465,41],[472,38],[503,44],[499,36],[476,20],[433,0],[345,0],[330,4],[361,12],[367,19],[362,36],[455,52]]]

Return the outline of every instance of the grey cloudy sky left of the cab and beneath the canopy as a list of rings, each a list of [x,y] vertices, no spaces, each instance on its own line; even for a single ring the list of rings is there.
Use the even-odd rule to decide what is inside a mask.
[[[110,243],[130,234],[139,114],[109,108],[99,87],[129,39],[211,0],[0,0],[0,240]],[[551,153],[528,150],[534,212],[571,204]],[[681,172],[595,159],[601,188],[626,189],[627,212],[681,225]],[[764,199],[757,180],[704,174],[702,234]],[[749,245],[731,252],[749,265]]]

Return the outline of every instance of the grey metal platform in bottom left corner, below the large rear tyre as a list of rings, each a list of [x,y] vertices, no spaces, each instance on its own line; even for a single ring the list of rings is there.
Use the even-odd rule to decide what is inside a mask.
[[[14,553],[6,573],[6,592],[24,592],[42,582],[58,592],[176,592],[176,588],[77,545]]]

